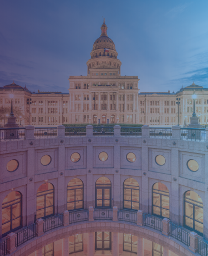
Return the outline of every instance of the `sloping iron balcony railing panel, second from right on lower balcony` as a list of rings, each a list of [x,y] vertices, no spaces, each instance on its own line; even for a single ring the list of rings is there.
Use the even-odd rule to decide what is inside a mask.
[[[189,232],[173,223],[170,223],[170,237],[189,246]]]

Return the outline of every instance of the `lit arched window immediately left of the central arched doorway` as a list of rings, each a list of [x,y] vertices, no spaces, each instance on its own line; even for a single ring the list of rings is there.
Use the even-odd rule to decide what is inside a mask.
[[[83,207],[83,182],[75,178],[67,185],[67,210],[83,209]]]

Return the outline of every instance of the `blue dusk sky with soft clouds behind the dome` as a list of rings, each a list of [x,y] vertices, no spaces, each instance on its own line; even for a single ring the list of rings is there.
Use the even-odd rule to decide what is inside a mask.
[[[122,62],[140,92],[208,87],[208,1],[0,1],[0,87],[68,92],[105,17]]]

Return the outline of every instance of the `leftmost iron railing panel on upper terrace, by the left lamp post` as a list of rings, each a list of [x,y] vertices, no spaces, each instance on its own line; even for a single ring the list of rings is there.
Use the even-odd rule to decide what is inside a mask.
[[[7,140],[25,140],[26,128],[0,128],[0,141]]]

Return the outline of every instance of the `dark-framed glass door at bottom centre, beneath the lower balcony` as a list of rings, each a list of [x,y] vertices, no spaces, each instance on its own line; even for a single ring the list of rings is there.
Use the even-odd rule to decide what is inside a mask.
[[[95,250],[111,250],[111,232],[95,232]]]

